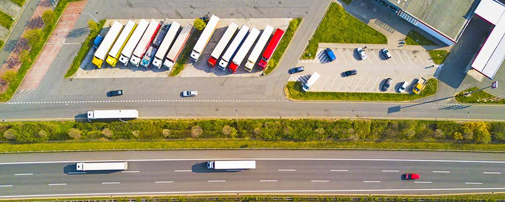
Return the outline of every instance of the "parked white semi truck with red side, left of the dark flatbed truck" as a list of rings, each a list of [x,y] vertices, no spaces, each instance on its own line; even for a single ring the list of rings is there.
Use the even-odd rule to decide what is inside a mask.
[[[133,51],[133,56],[131,56],[130,63],[138,67],[140,65],[140,61],[142,57],[144,57],[147,48],[153,41],[153,38],[156,36],[156,33],[160,29],[160,22],[152,19],[149,22],[149,26],[145,29],[144,35],[140,38],[135,50]]]

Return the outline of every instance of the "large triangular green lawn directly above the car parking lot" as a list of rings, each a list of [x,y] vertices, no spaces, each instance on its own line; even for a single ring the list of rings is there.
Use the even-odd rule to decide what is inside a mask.
[[[319,43],[387,44],[387,38],[345,12],[337,3],[331,3],[301,59],[314,59]]]

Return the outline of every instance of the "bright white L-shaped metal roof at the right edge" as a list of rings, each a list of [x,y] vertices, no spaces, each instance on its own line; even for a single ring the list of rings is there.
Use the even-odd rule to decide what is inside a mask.
[[[505,59],[505,6],[482,0],[475,14],[495,25],[472,63],[473,69],[492,79]]]

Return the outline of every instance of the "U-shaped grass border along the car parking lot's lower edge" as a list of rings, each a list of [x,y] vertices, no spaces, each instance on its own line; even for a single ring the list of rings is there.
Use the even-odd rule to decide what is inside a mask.
[[[294,100],[353,100],[353,101],[411,101],[437,92],[437,80],[429,79],[420,94],[411,93],[374,93],[374,92],[304,92],[301,82],[290,81],[284,89],[286,96]]]

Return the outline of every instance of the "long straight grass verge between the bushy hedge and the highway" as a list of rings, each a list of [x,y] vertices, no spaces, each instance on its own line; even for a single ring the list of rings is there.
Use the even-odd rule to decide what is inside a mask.
[[[292,141],[244,139],[184,139],[155,141],[89,141],[40,142],[31,144],[0,144],[0,152],[117,150],[117,149],[416,149],[416,150],[466,150],[504,151],[505,144],[455,143],[426,141]]]

